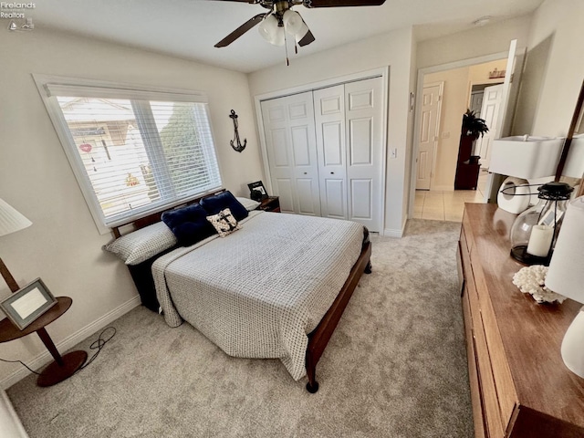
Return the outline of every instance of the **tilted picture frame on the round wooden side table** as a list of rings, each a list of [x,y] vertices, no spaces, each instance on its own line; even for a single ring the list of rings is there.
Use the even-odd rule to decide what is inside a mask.
[[[57,304],[43,280],[36,278],[25,287],[0,302],[6,317],[21,330],[32,324],[38,317]]]

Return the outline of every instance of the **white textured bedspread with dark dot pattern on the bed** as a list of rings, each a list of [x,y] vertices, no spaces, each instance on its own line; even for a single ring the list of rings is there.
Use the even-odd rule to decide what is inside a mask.
[[[231,356],[279,358],[298,380],[307,334],[359,258],[363,226],[264,212],[241,224],[154,263],[164,318],[172,327],[188,321]]]

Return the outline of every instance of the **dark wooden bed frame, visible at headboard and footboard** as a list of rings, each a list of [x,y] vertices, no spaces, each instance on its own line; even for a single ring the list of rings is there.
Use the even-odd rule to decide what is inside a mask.
[[[225,190],[220,190],[214,193],[209,193],[200,198],[196,198],[193,201],[188,203],[183,203],[179,207],[183,207],[188,204],[198,203],[201,199],[206,198],[208,196],[214,196],[218,193],[223,193]],[[173,207],[173,208],[179,208]],[[135,229],[144,228],[148,225],[155,224],[161,221],[162,213],[157,212],[154,214],[149,214],[144,216],[138,220],[130,222],[128,224],[120,224],[118,226],[112,227],[111,231],[115,237],[120,237],[120,228],[133,224]],[[335,328],[339,324],[340,317],[342,316],[345,308],[347,308],[347,304],[349,304],[349,299],[353,295],[353,291],[357,287],[360,277],[363,273],[370,274],[371,273],[371,243],[369,241],[369,232],[366,230],[366,235],[363,239],[363,246],[361,248],[361,253],[355,265],[351,268],[349,272],[349,277],[343,287],[341,287],[339,291],[339,295],[335,298],[334,302],[328,308],[327,313],[325,313],[324,317],[320,319],[317,328],[312,330],[308,334],[308,348],[306,354],[306,369],[307,369],[307,376],[308,376],[308,383],[307,383],[307,391],[311,393],[315,393],[318,391],[318,381],[316,380],[316,373],[317,373],[317,363],[322,356],[325,348],[327,347],[328,340],[332,336]]]

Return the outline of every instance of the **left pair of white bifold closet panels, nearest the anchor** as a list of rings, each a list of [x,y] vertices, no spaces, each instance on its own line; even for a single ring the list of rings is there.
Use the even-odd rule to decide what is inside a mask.
[[[285,213],[320,215],[312,92],[265,100],[262,119],[274,194]]]

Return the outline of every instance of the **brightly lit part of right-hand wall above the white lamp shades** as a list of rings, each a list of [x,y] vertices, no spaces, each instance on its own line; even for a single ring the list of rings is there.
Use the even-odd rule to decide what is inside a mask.
[[[584,79],[584,2],[546,0],[533,16],[527,49],[553,36],[533,135],[565,136]]]

